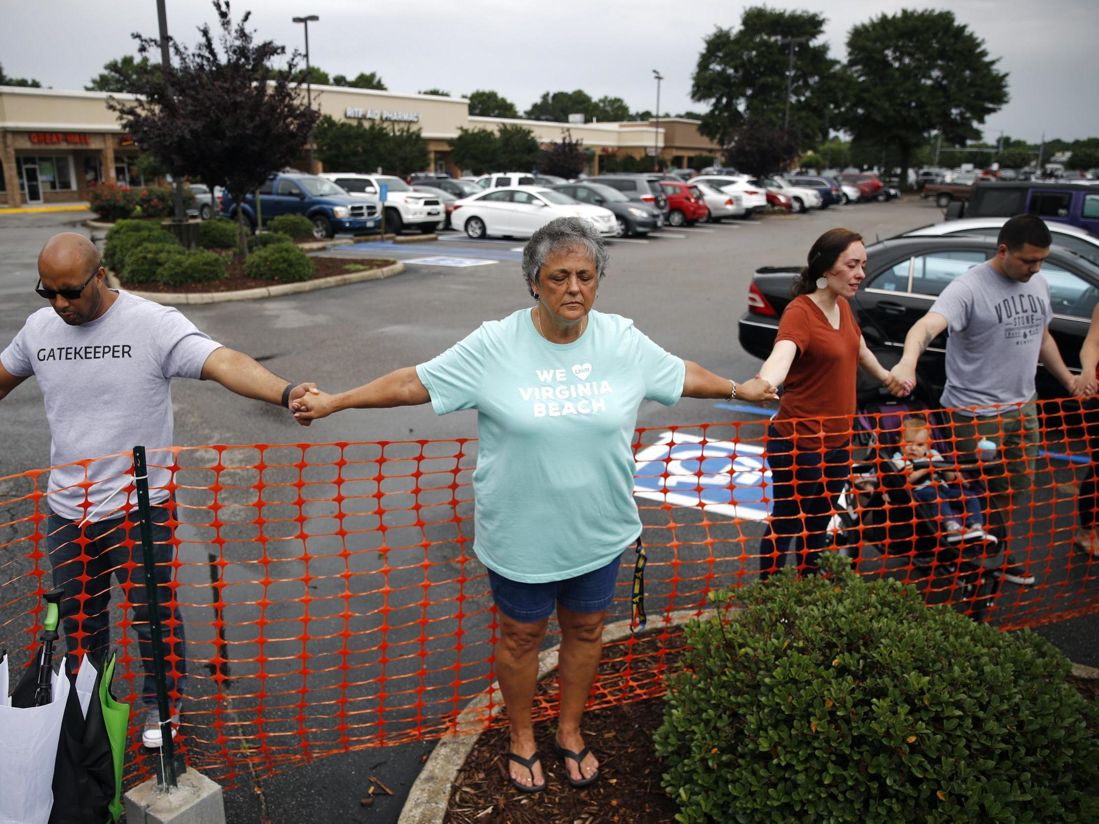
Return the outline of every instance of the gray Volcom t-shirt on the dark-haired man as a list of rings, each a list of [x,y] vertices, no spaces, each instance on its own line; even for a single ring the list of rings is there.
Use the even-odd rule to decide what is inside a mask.
[[[1039,350],[1053,319],[1041,272],[1021,283],[986,261],[950,283],[931,311],[946,319],[950,331],[944,407],[992,415],[1002,404],[1034,397]]]

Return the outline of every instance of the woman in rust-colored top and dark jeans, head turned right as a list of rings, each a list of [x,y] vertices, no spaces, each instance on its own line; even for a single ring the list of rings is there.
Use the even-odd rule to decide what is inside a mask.
[[[768,428],[767,463],[774,509],[759,547],[759,576],[781,567],[791,541],[800,539],[798,567],[815,572],[826,545],[833,501],[851,477],[851,420],[858,367],[903,396],[863,341],[847,299],[866,277],[862,235],[825,232],[809,250],[809,265],[793,285],[795,299],[778,324],[770,357],[758,380],[785,385]]]

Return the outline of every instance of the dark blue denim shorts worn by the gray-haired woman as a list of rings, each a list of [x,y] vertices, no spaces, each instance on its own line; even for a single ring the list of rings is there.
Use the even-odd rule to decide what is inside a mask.
[[[488,570],[488,583],[497,609],[508,617],[533,624],[550,617],[554,605],[573,612],[602,612],[614,599],[621,553],[604,567],[559,581],[523,583]]]

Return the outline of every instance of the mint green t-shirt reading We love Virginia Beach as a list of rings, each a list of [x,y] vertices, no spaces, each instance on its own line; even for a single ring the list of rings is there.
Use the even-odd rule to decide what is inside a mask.
[[[637,409],[676,403],[686,367],[633,321],[592,311],[579,338],[554,344],[522,309],[417,374],[436,414],[477,410],[474,552],[489,569],[525,583],[573,578],[641,535]]]

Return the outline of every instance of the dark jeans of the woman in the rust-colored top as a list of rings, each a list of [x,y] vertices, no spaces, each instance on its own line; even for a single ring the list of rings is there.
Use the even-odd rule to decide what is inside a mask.
[[[768,428],[767,464],[770,466],[775,504],[767,532],[759,542],[759,578],[786,564],[791,543],[804,542],[804,553],[796,549],[798,566],[817,571],[820,550],[828,545],[828,522],[834,501],[851,479],[851,448],[845,444],[822,452],[793,452],[793,442]],[[777,536],[777,537],[776,537]]]

